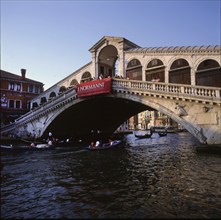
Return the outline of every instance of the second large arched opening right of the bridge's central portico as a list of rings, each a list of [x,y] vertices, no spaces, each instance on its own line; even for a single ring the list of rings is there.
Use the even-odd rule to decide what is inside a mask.
[[[146,68],[146,81],[165,81],[165,66],[159,59],[151,60]]]

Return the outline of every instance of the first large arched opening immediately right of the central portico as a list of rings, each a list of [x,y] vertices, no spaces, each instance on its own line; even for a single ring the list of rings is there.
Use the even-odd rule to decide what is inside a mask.
[[[126,77],[133,80],[142,80],[142,66],[139,60],[131,60],[126,69]]]

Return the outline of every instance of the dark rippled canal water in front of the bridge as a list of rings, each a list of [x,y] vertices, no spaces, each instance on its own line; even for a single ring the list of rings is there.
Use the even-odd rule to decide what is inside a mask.
[[[182,132],[4,153],[1,218],[221,218],[221,157]]]

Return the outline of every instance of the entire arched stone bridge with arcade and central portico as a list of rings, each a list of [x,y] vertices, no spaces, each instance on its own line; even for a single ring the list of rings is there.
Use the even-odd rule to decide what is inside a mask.
[[[1,136],[109,135],[131,116],[157,110],[201,143],[221,144],[220,46],[141,48],[105,36],[89,51],[91,62],[33,99]],[[110,92],[79,97],[76,88],[99,76],[110,77]]]

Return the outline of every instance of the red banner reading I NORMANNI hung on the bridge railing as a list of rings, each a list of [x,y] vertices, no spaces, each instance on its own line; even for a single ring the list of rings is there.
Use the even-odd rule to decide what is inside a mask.
[[[77,87],[78,97],[110,93],[111,78],[97,79],[81,83]]]

